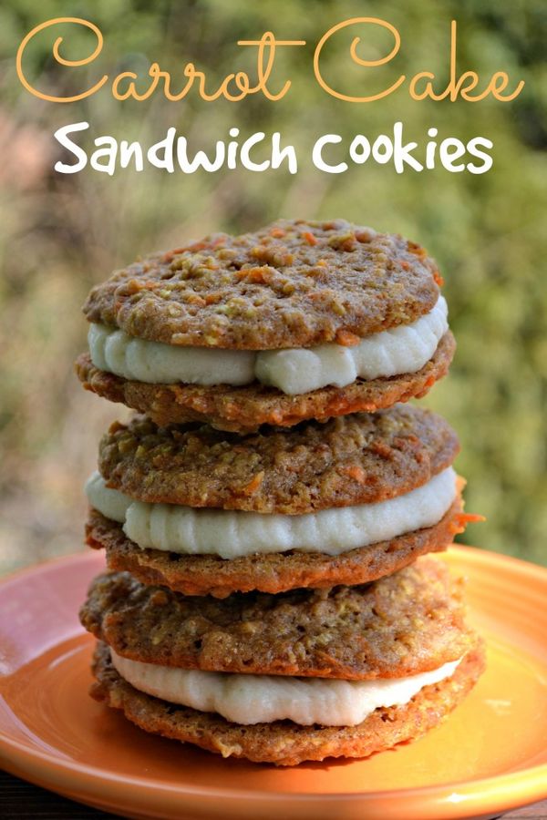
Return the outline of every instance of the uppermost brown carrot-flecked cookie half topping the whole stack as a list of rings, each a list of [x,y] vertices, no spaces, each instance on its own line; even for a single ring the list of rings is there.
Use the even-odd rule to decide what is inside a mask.
[[[312,347],[413,322],[437,302],[439,281],[427,252],[401,236],[280,220],[135,262],[95,287],[84,313],[168,344]]]

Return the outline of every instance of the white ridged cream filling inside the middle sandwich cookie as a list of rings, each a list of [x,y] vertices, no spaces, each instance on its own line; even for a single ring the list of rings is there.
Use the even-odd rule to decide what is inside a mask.
[[[456,493],[456,473],[448,467],[422,487],[396,498],[288,516],[135,501],[107,487],[98,473],[86,485],[90,505],[123,524],[127,537],[140,548],[222,559],[290,549],[340,555],[432,527],[448,511]]]

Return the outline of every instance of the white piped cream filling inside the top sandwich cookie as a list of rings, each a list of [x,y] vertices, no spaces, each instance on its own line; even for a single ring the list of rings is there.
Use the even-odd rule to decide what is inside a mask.
[[[373,333],[354,347],[321,344],[309,350],[222,350],[150,342],[122,330],[91,324],[91,361],[100,370],[147,384],[231,384],[256,379],[284,394],[299,395],[357,378],[376,379],[416,373],[437,350],[448,330],[447,302],[442,296],[415,322]]]

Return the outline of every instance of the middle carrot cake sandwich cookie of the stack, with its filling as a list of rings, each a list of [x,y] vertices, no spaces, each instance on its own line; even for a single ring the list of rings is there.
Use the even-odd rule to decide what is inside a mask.
[[[187,595],[365,583],[462,531],[458,450],[411,405],[247,436],[136,416],[101,441],[88,544]]]

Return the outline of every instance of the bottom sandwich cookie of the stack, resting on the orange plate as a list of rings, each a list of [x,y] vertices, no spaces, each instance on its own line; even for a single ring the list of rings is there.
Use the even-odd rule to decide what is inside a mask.
[[[293,765],[364,757],[437,725],[480,676],[459,581],[426,557],[374,583],[224,600],[99,576],[91,694],[150,733]]]

